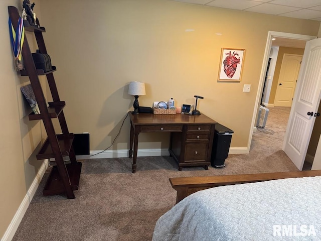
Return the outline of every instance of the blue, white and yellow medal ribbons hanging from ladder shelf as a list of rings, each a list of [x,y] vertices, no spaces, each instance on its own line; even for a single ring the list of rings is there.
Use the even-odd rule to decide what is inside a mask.
[[[24,21],[19,17],[17,31],[12,25],[11,18],[9,18],[9,33],[11,39],[11,45],[15,55],[16,67],[18,70],[23,70],[24,66],[21,63],[22,60],[22,46],[25,40],[25,28]]]

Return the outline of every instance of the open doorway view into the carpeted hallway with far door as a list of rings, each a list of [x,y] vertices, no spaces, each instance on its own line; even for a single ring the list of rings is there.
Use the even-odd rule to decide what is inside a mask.
[[[266,141],[270,140],[268,145],[271,148],[274,147],[275,152],[282,150],[305,43],[306,41],[303,40],[286,38],[275,38],[272,42],[260,103],[262,106],[260,109],[268,111],[267,116],[264,116],[267,126],[258,125],[263,118],[261,111],[257,116],[256,128],[258,131],[273,135],[275,133],[273,127],[276,127],[276,135],[266,138]],[[253,138],[258,138],[258,135],[253,135],[252,141],[254,141]],[[276,146],[272,140],[278,140],[278,145]]]

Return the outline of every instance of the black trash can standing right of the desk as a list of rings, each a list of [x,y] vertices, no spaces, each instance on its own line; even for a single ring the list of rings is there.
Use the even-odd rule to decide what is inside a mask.
[[[215,125],[211,165],[212,167],[224,167],[224,162],[229,155],[233,131],[221,124]]]

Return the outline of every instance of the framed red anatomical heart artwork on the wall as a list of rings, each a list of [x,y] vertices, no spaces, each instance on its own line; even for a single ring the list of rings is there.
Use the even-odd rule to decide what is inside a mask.
[[[245,49],[222,48],[218,81],[241,81]]]

